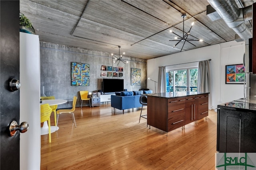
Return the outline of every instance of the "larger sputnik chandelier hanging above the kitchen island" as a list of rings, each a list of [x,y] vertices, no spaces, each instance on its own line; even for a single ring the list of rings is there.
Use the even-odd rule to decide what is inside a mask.
[[[184,32],[184,18],[186,17],[186,14],[182,14],[181,17],[183,18],[183,37],[179,36],[178,34],[175,34],[174,32],[172,32],[172,30],[170,30],[170,32],[172,32],[173,34],[175,34],[175,35],[178,36],[178,37],[175,37],[175,38],[174,38],[175,40],[169,40],[169,41],[178,41],[173,47],[175,47],[176,45],[178,45],[178,43],[180,43],[180,42],[184,42],[183,45],[182,45],[182,48],[181,48],[180,52],[182,51],[185,42],[188,42],[188,43],[194,45],[194,44],[191,43],[190,41],[200,41],[200,42],[203,41],[203,40],[199,40],[199,39],[195,40],[195,39],[188,38],[188,35],[190,35],[190,30],[191,30],[192,26],[194,25],[194,22],[192,22],[189,31],[188,31],[186,34],[184,34],[184,33],[185,33],[185,32]],[[196,46],[196,45],[194,45],[194,46]]]

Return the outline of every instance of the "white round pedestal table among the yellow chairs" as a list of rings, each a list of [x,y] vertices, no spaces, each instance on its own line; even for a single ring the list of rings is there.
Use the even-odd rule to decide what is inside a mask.
[[[51,100],[41,100],[41,101],[40,101],[40,105],[48,103],[50,106],[60,105],[60,104],[67,102],[67,100],[63,100],[63,99],[51,99]],[[51,126],[51,133],[55,132],[58,129],[59,129],[59,127],[57,127],[57,126]],[[45,121],[43,127],[41,127],[41,135],[44,135],[44,134],[49,134],[49,128],[48,128],[47,121]]]

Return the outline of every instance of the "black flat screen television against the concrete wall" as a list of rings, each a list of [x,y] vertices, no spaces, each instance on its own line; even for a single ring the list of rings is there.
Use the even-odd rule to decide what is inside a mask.
[[[124,91],[124,79],[103,79],[103,93],[114,93],[119,91]]]

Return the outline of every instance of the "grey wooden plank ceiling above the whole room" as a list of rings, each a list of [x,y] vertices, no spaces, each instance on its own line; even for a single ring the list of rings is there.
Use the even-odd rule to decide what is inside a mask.
[[[253,0],[240,1],[244,6]],[[238,2],[237,2],[238,3]],[[40,41],[95,51],[152,59],[178,53],[179,36],[191,29],[182,51],[234,40],[235,32],[222,20],[206,15],[206,0],[20,0],[20,12],[27,16]],[[249,27],[251,23],[246,23]],[[251,29],[251,28],[250,28]]]

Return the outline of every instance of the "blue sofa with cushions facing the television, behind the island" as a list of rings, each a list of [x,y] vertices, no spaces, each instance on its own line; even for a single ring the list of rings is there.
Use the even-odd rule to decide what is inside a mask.
[[[152,90],[149,91],[121,91],[116,93],[116,95],[111,95],[111,107],[114,107],[119,110],[132,109],[136,107],[142,107],[140,104],[140,95],[152,93]]]

